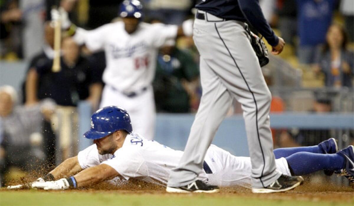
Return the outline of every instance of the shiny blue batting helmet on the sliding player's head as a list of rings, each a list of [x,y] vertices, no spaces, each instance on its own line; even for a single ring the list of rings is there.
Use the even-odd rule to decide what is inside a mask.
[[[101,139],[117,130],[132,132],[132,124],[128,112],[116,106],[103,107],[91,116],[91,128],[84,134],[87,139]]]

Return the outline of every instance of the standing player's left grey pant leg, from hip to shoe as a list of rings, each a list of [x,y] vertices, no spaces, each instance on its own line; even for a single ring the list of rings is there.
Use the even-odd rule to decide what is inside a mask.
[[[188,186],[202,172],[206,151],[232,103],[229,92],[215,73],[215,70],[220,68],[209,66],[210,61],[224,60],[223,54],[218,52],[222,43],[216,41],[217,33],[214,24],[195,19],[193,39],[200,53],[200,79],[203,94],[182,158],[178,166],[170,173],[167,192],[190,190]],[[213,191],[214,188],[206,190]]]

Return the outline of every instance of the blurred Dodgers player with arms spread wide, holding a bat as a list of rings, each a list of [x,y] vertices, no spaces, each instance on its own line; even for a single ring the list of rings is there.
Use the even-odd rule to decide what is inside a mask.
[[[103,11],[104,12],[104,11]],[[192,35],[192,21],[177,25],[141,22],[142,5],[138,0],[125,0],[119,10],[122,21],[105,24],[92,31],[76,28],[64,10],[52,10],[52,20],[61,19],[62,28],[75,41],[92,51],[104,50],[105,87],[100,108],[121,105],[129,111],[135,130],[152,139],[155,129],[155,102],[152,81],[158,49],[166,40]]]

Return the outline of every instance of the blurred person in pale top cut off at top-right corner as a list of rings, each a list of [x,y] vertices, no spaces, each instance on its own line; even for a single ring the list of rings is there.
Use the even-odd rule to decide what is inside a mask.
[[[349,34],[348,40],[354,42],[354,1],[342,0],[340,10],[344,16],[346,30]]]

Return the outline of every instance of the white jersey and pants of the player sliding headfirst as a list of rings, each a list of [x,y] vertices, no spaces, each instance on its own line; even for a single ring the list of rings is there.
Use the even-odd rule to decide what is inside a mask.
[[[82,169],[99,164],[113,167],[125,179],[138,178],[143,181],[167,184],[171,169],[177,166],[183,152],[173,150],[156,141],[144,139],[138,134],[127,135],[123,146],[114,155],[98,154],[96,145],[79,152],[78,160]],[[249,157],[235,157],[229,152],[211,145],[205,162],[212,174],[205,171],[198,178],[218,186],[245,186],[251,184],[251,160]],[[276,160],[277,169],[290,175],[285,158]]]

